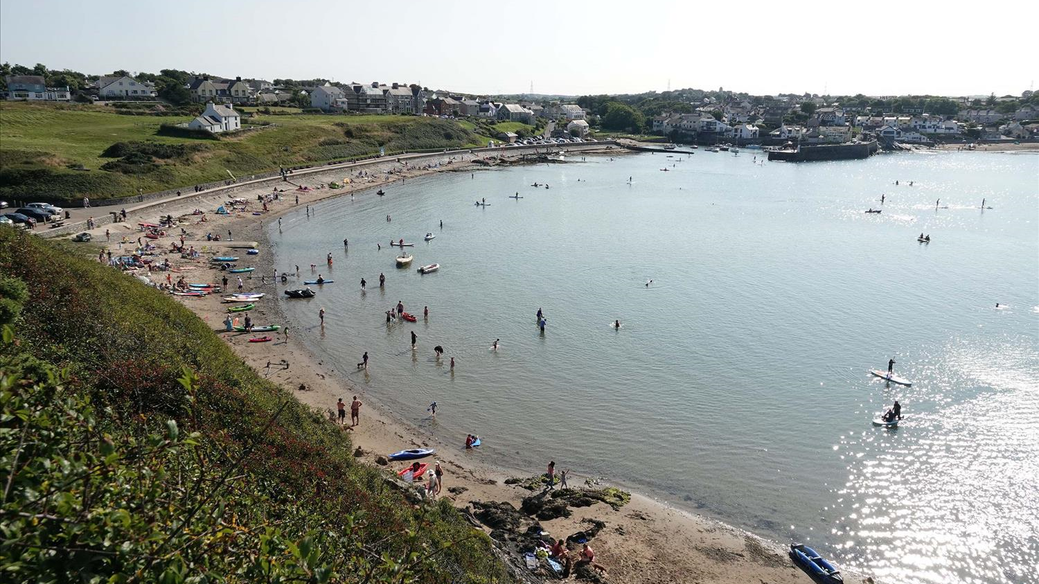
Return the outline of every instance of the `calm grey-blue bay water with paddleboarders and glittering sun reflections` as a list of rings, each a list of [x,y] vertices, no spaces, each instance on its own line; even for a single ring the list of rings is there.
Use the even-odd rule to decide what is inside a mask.
[[[282,269],[337,282],[285,309],[369,395],[459,447],[480,434],[489,460],[555,459],[887,581],[1035,581],[1015,566],[1039,563],[1039,156],[755,154],[571,157],[320,203],[271,241]],[[385,324],[398,300],[419,322]],[[868,375],[889,357],[911,388]],[[901,426],[874,427],[894,399]]]

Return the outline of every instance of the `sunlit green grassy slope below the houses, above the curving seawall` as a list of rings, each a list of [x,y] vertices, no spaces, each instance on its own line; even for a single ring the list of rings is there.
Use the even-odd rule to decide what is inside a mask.
[[[471,124],[401,115],[261,115],[243,125],[274,126],[219,140],[160,136],[162,124],[187,117],[121,115],[98,106],[0,104],[0,197],[105,198],[405,150],[486,145]],[[123,159],[116,142],[190,144],[189,153]],[[153,149],[154,150],[154,149]],[[184,150],[184,149],[181,149]],[[106,163],[112,171],[102,168]]]

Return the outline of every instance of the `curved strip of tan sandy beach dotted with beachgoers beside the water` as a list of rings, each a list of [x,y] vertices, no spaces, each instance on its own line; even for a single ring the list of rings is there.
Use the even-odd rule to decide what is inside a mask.
[[[600,147],[602,149],[602,147]],[[520,150],[520,149],[515,149]],[[586,154],[593,152],[585,150]],[[509,151],[506,151],[508,153]],[[605,151],[602,152],[606,154]],[[518,153],[516,153],[518,154]],[[616,155],[615,151],[610,151],[610,155]],[[392,181],[418,177],[433,171],[473,171],[481,168],[481,165],[469,162],[459,162],[457,158],[451,165],[445,165],[452,156],[457,157],[458,153],[446,153],[441,157],[423,160],[423,164],[442,163],[439,167],[432,169],[414,168],[402,170],[402,166],[395,160],[381,159],[374,163],[368,163],[365,168],[370,172],[379,172],[380,176],[373,178],[366,183],[354,183],[346,189],[320,189],[310,192],[299,193],[299,205],[310,205],[312,208],[318,202],[332,196],[341,196],[351,192],[357,192],[358,196],[375,196],[375,187],[392,184]],[[472,160],[472,159],[469,159]],[[382,170],[396,167],[399,174],[393,175],[390,179],[381,176]],[[354,168],[355,171],[356,168]],[[293,177],[296,183],[317,186],[327,184],[328,180],[340,179],[344,172],[341,168],[322,169],[322,172],[313,172],[300,176],[298,172]],[[334,175],[329,174],[334,172]],[[175,271],[171,275],[174,281],[181,275],[187,282],[212,282],[219,283],[221,272],[213,270],[208,265],[208,259],[212,256],[223,255],[229,250],[223,246],[225,242],[205,242],[206,233],[223,234],[232,231],[235,236],[234,244],[242,244],[247,240],[256,240],[260,248],[259,256],[245,256],[240,250],[234,255],[243,258],[255,258],[255,261],[241,263],[255,266],[257,271],[245,282],[247,291],[259,291],[267,293],[267,296],[258,302],[257,309],[247,313],[252,322],[257,324],[286,324],[285,316],[279,309],[277,297],[281,296],[282,285],[270,284],[270,274],[273,273],[274,266],[271,255],[267,253],[270,248],[266,241],[265,224],[276,220],[283,213],[296,208],[295,194],[297,191],[289,190],[287,183],[279,188],[286,188],[285,198],[281,202],[269,204],[270,211],[262,216],[251,215],[250,212],[234,213],[230,216],[218,216],[211,211],[216,206],[222,204],[229,197],[228,191],[205,192],[197,196],[181,197],[172,202],[165,201],[160,205],[148,205],[143,208],[128,212],[131,216],[127,222],[102,225],[91,231],[95,242],[101,242],[102,247],[110,246],[113,256],[121,255],[116,241],[124,235],[136,241],[139,232],[136,231],[138,221],[158,222],[159,216],[172,214],[181,219],[180,227],[187,230],[186,240],[188,243],[195,242],[196,249],[203,253],[198,260],[183,260],[179,254],[164,254],[158,256],[158,260],[168,258]],[[234,196],[241,196],[251,201],[250,207],[256,206],[258,194],[269,193],[270,184],[257,185],[236,185]],[[192,193],[194,194],[194,193]],[[317,205],[320,207],[320,205]],[[206,222],[196,222],[197,216],[191,215],[194,208],[206,210]],[[112,232],[112,242],[106,244],[104,232],[109,229]],[[78,232],[78,230],[72,230]],[[162,237],[155,243],[160,249],[168,250],[170,243],[179,235],[179,229],[171,230],[170,234]],[[361,243],[358,238],[357,243]],[[84,244],[84,250],[89,246],[91,255],[97,254],[97,247],[91,244]],[[319,261],[320,258],[316,259]],[[289,268],[290,266],[281,266]],[[287,270],[279,270],[287,271]],[[265,277],[266,284],[261,283],[261,274]],[[153,282],[165,281],[165,272],[153,272],[150,277]],[[303,275],[309,275],[309,270],[304,270]],[[236,278],[234,274],[229,274],[231,287],[235,287]],[[292,276],[289,286],[298,284],[299,278]],[[529,478],[544,472],[544,469],[513,470],[496,468],[483,464],[480,460],[480,451],[465,451],[462,448],[464,436],[459,436],[458,444],[441,444],[431,440],[420,429],[398,420],[385,407],[375,403],[369,397],[364,388],[355,388],[341,376],[331,366],[324,364],[320,359],[312,354],[305,345],[299,340],[302,331],[317,328],[317,315],[313,323],[301,324],[297,327],[292,324],[288,330],[288,340],[282,333],[265,334],[274,337],[269,343],[248,343],[248,339],[255,335],[224,333],[221,324],[227,315],[228,304],[220,302],[220,295],[215,294],[203,298],[180,298],[183,303],[194,311],[199,318],[212,325],[213,329],[223,337],[234,348],[242,360],[262,375],[281,383],[293,391],[296,397],[313,406],[316,410],[328,415],[336,407],[337,398],[349,404],[351,398],[356,395],[364,406],[361,408],[361,424],[355,428],[345,428],[344,431],[351,432],[351,440],[357,447],[357,455],[366,462],[378,464],[379,458],[405,448],[433,447],[437,450],[437,459],[444,462],[445,477],[444,488],[441,497],[447,498],[453,504],[467,513],[474,525],[486,532],[494,532],[499,545],[509,553],[508,557],[514,565],[521,566],[523,558],[516,553],[520,547],[516,541],[523,541],[529,537],[528,530],[535,525],[535,520],[524,513],[517,512],[523,505],[524,498],[537,496],[540,490],[527,490],[521,485],[505,484],[505,479],[509,477]],[[336,326],[329,321],[326,326]],[[288,368],[277,365],[282,361],[288,362]],[[268,367],[269,365],[269,367]],[[372,364],[371,374],[378,375],[378,368],[382,364]],[[547,445],[541,445],[547,448]],[[494,448],[494,444],[487,444],[483,448]],[[542,456],[545,461],[552,457],[552,453],[547,449]],[[432,462],[432,459],[426,459]],[[404,464],[391,463],[390,469],[398,471]],[[567,468],[565,461],[561,461],[559,470]],[[583,486],[586,477],[571,476],[569,484],[571,487]],[[601,486],[601,485],[600,485]],[[548,501],[550,499],[542,500]],[[480,511],[481,507],[486,507],[481,503],[497,502],[505,505],[494,505],[490,512]],[[726,526],[719,522],[687,513],[667,506],[664,503],[652,499],[635,495],[627,505],[617,509],[606,503],[593,502],[588,506],[570,506],[572,514],[569,516],[547,519],[539,523],[540,529],[550,533],[553,537],[566,538],[568,535],[580,531],[589,534],[594,531],[590,538],[590,545],[596,552],[596,562],[607,569],[606,582],[633,583],[633,584],[665,584],[665,583],[702,583],[702,584],[728,584],[734,582],[768,583],[768,584],[795,584],[808,583],[810,579],[796,567],[788,559],[781,547],[774,542],[765,541],[751,534]],[[477,520],[476,516],[480,519]],[[518,520],[518,522],[516,522]],[[602,522],[596,529],[593,522]],[[487,524],[491,524],[492,527]],[[535,528],[536,529],[536,528]],[[511,543],[503,543],[502,538],[508,538]],[[571,545],[571,553],[580,551],[579,545]],[[543,564],[542,564],[543,565]],[[524,572],[525,568],[518,568]],[[543,573],[538,572],[535,581],[540,580]],[[845,575],[846,582],[858,584],[872,582],[872,579],[862,579],[850,574]],[[571,577],[572,579],[572,577]],[[548,581],[551,581],[549,579]]]

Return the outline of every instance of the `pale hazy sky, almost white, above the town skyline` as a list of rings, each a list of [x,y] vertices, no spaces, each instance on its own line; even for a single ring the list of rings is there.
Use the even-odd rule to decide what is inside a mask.
[[[1035,1],[2,0],[0,60],[476,94],[1019,95],[1036,22]]]

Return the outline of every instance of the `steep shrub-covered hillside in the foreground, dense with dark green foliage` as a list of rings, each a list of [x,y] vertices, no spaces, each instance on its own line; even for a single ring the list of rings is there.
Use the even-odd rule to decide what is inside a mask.
[[[5,578],[510,581],[448,502],[407,504],[191,312],[81,254],[0,227]]]

